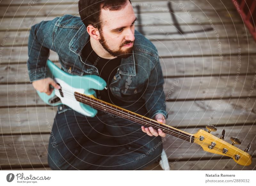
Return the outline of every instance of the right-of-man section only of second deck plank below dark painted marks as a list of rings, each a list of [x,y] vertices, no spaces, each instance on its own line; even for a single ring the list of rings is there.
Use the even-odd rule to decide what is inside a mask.
[[[254,74],[256,71],[256,58],[254,54],[241,55],[241,64],[238,56],[224,56],[220,61],[218,56],[204,57],[173,57],[160,58],[164,76],[204,76],[204,75],[232,75]],[[238,70],[238,65],[240,70]]]

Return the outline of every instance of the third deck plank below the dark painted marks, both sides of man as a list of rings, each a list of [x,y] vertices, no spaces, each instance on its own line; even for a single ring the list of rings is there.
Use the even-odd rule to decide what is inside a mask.
[[[256,91],[251,90],[253,75],[240,75],[220,77],[179,77],[167,78],[164,84],[166,100],[212,99],[229,97],[255,97]],[[199,82],[199,83],[198,83]],[[237,83],[236,83],[237,82]],[[236,85],[236,86],[235,86]],[[205,91],[207,94],[204,96]],[[45,105],[37,96],[29,80],[24,84],[0,85],[0,102],[2,106],[29,106]],[[7,95],[7,99],[6,99]]]

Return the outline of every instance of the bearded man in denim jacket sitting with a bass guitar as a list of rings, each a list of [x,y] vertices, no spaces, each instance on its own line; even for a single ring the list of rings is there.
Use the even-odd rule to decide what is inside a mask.
[[[108,84],[99,99],[165,123],[163,74],[155,46],[134,29],[129,0],[80,0],[80,17],[32,26],[28,70],[35,89],[59,89],[45,68],[49,49],[70,74],[96,74]],[[107,134],[103,133],[107,131]],[[53,170],[140,170],[162,153],[161,129],[99,111],[93,118],[58,107],[48,148]]]

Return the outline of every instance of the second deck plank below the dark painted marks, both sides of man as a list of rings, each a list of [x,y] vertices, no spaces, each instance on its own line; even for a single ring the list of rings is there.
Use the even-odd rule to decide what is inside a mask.
[[[203,75],[236,75],[253,74],[256,71],[256,55],[243,55],[243,65],[239,71],[238,57],[187,57],[187,58],[161,58],[160,63],[164,77],[176,76],[203,76]],[[55,63],[59,65],[59,63]],[[0,83],[23,83],[28,81],[28,70],[25,63],[2,64],[0,66]]]

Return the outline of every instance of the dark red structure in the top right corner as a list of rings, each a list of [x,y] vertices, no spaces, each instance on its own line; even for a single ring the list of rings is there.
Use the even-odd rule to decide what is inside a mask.
[[[256,0],[232,0],[232,2],[256,41]]]

